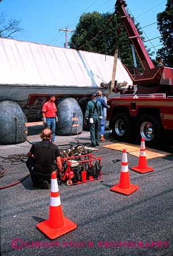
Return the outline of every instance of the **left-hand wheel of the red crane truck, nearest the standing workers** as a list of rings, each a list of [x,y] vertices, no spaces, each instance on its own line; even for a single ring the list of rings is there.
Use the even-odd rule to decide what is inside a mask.
[[[114,116],[112,136],[120,141],[125,141],[131,137],[131,123],[126,113],[118,113]]]

